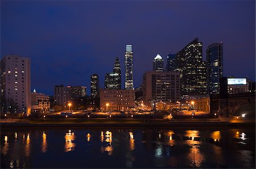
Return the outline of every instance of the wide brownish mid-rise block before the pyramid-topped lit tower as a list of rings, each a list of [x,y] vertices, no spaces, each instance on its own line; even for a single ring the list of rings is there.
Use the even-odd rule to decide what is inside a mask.
[[[180,74],[178,72],[147,71],[143,74],[143,101],[172,102],[180,100]]]

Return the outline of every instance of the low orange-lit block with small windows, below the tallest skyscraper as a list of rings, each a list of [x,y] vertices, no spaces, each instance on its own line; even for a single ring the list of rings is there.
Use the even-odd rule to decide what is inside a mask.
[[[135,106],[134,90],[100,90],[100,108],[105,111],[129,110]]]

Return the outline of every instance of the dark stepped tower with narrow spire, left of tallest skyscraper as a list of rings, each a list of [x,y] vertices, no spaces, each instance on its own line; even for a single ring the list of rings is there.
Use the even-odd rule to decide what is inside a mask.
[[[105,75],[105,89],[121,89],[121,67],[118,57],[115,58],[113,72]]]

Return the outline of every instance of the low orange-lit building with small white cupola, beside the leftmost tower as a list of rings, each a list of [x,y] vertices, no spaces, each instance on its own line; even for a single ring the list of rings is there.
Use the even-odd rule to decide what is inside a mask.
[[[31,113],[48,113],[50,106],[49,96],[35,90],[31,92]]]

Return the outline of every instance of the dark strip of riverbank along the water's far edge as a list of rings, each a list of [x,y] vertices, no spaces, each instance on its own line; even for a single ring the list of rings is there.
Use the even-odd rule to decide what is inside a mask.
[[[173,120],[173,121],[26,121],[26,122],[0,122],[1,127],[73,127],[73,126],[136,126],[136,127],[154,127],[154,126],[254,126],[255,122],[227,122],[216,120]]]

